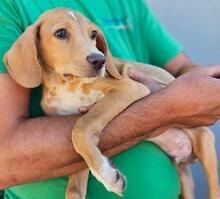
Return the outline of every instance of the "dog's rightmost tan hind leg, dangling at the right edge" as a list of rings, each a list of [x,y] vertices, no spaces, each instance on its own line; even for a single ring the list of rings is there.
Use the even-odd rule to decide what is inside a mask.
[[[220,199],[215,137],[207,127],[186,129],[193,142],[193,152],[201,162],[209,187],[209,199]]]

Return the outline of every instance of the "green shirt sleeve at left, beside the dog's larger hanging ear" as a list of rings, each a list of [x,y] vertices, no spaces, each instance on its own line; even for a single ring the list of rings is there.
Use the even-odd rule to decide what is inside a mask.
[[[0,72],[7,72],[3,56],[22,34],[22,22],[12,0],[0,2]]]

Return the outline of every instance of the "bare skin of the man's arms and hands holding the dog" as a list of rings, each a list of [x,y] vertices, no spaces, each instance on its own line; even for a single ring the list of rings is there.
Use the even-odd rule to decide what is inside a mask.
[[[166,69],[175,75],[189,65],[190,60],[180,53]],[[170,126],[213,124],[220,117],[220,80],[214,78],[219,74],[220,66],[198,68],[165,89],[153,85],[152,91],[157,92],[132,104],[107,125],[100,138],[101,150],[112,156]],[[152,86],[140,74],[131,72],[130,76]],[[80,116],[29,118],[30,90],[8,74],[0,74],[0,89],[4,116],[0,120],[0,189],[69,175],[85,167],[71,142]]]

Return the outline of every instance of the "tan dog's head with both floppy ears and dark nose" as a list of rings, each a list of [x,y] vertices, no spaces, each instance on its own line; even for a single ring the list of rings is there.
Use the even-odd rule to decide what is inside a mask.
[[[14,80],[41,84],[42,67],[60,75],[94,77],[105,69],[120,79],[101,30],[78,12],[53,9],[29,26],[4,56]]]

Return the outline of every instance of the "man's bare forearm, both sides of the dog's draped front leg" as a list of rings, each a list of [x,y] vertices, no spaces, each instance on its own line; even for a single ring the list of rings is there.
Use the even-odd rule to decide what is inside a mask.
[[[153,110],[158,108],[158,99],[143,99],[115,118],[101,136],[101,150],[108,156],[115,155],[143,139],[145,132],[158,128],[163,120]],[[76,119],[41,117],[11,127],[0,146],[4,151],[0,157],[4,165],[0,167],[0,182],[5,183],[2,186],[68,175],[84,168],[85,163],[71,142]]]

